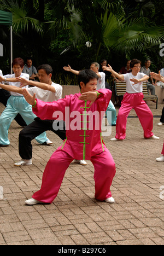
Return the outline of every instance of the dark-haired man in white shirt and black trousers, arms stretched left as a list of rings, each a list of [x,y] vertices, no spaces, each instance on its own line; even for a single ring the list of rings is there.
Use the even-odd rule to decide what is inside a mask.
[[[59,84],[55,84],[52,82],[52,68],[51,66],[45,64],[38,67],[38,77],[39,82],[33,82],[32,80],[28,81],[24,78],[17,78],[19,82],[21,82],[21,86],[25,87],[27,85],[32,85],[34,87],[28,88],[28,92],[31,95],[36,94],[36,98],[42,100],[44,102],[52,102],[57,101],[62,97],[62,86]],[[1,86],[1,85],[0,85]],[[13,86],[10,88],[6,86],[7,90],[14,90],[23,94],[22,88],[16,88]],[[55,124],[54,124],[55,123]],[[57,127],[57,130],[54,130],[53,127]],[[52,131],[58,135],[62,139],[66,139],[66,130],[65,130],[65,122],[63,121],[54,121],[54,120],[41,120],[40,118],[35,118],[34,121],[25,127],[20,132],[19,135],[19,154],[21,156],[21,160],[16,162],[15,166],[23,166],[23,165],[32,165],[32,144],[31,141],[36,136],[40,135],[45,131]],[[75,160],[81,165],[85,165],[86,162],[83,160]]]

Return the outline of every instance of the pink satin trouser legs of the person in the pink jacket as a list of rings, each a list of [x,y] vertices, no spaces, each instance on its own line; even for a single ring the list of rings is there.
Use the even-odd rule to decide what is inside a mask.
[[[65,172],[73,160],[65,151],[57,149],[45,167],[42,187],[33,194],[33,199],[44,203],[52,203],[61,187]],[[104,201],[112,196],[110,186],[116,172],[115,163],[106,147],[104,147],[104,152],[101,154],[92,156],[91,162],[95,167],[95,198]]]

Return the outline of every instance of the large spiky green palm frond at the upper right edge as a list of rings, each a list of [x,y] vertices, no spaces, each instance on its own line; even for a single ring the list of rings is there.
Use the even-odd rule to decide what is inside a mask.
[[[132,19],[122,25],[118,40],[113,45],[113,49],[121,53],[130,55],[131,51],[145,51],[160,45],[164,39],[163,26],[156,26],[148,18]]]

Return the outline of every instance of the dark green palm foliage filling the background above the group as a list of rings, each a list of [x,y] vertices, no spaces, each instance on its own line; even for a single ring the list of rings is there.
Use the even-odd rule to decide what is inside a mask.
[[[63,66],[81,70],[93,61],[108,59],[119,71],[126,59],[149,57],[154,69],[163,65],[162,0],[137,3],[131,0],[0,0],[0,9],[13,13],[13,55],[33,56],[34,66],[49,63],[54,80],[77,84]],[[0,27],[4,57],[1,69],[9,68],[8,28]],[[91,48],[85,43],[90,41]]]

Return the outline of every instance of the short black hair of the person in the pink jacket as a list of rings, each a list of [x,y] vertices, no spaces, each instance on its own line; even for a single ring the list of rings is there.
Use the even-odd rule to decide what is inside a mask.
[[[81,89],[80,83],[83,82],[85,85],[90,82],[91,79],[96,78],[98,80],[98,75],[91,69],[84,69],[78,74],[78,84]]]

